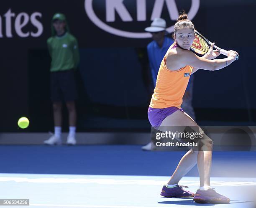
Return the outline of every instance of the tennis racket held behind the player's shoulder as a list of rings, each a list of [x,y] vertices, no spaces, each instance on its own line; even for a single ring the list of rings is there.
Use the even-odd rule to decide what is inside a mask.
[[[195,30],[195,40],[192,46],[190,47],[190,50],[195,53],[205,55],[209,51],[211,43],[212,43],[211,41],[208,41],[204,36],[202,36],[201,33]],[[213,46],[213,48],[218,50],[221,54],[228,56],[228,51],[221,49],[215,45]],[[239,55],[236,56],[236,60],[238,60],[238,58],[239,58]]]

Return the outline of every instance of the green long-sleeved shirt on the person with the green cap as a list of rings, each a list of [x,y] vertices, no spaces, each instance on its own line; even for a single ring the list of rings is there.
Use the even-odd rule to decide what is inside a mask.
[[[77,39],[66,32],[64,36],[52,36],[47,40],[51,56],[51,72],[76,68],[79,63]]]

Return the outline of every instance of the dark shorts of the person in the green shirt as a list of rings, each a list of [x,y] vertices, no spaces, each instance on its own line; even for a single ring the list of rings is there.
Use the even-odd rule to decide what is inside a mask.
[[[74,70],[51,72],[51,101],[74,101],[76,99]]]

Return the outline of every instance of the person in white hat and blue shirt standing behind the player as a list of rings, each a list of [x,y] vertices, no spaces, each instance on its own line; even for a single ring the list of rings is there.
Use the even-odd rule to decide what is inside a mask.
[[[152,82],[155,88],[156,78],[161,61],[163,60],[164,55],[166,54],[172,43],[174,43],[174,41],[166,36],[166,21],[162,18],[155,18],[154,21],[151,23],[151,26],[145,28],[145,30],[151,33],[153,39],[153,41],[148,43],[147,52]],[[195,112],[192,107],[193,81],[194,76],[191,76],[185,94],[183,96],[183,102],[181,107],[187,114],[189,114],[190,117],[192,117],[192,119],[195,120]],[[154,137],[154,128],[151,128],[151,137]],[[142,150],[151,150],[151,142],[143,146]]]

